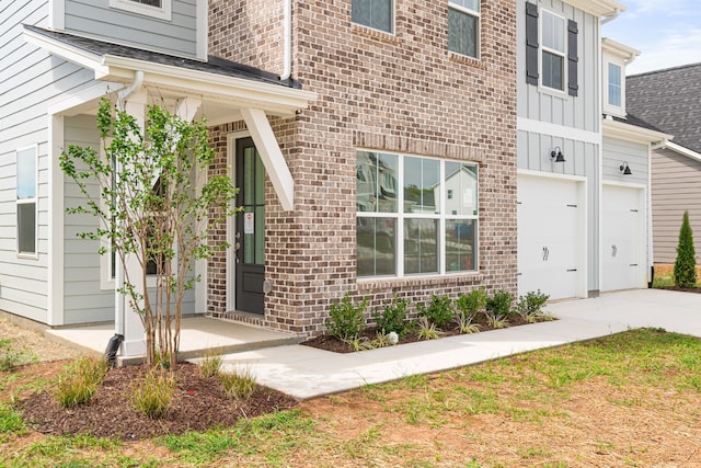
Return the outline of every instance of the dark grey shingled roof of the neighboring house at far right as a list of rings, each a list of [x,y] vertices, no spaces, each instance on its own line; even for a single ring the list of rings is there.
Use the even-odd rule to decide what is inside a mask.
[[[625,78],[629,113],[701,152],[701,64]]]

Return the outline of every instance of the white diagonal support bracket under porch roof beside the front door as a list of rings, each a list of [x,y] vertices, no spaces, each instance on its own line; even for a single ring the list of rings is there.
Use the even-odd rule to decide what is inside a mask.
[[[275,139],[275,134],[271,128],[271,123],[267,121],[265,112],[260,109],[242,109],[241,114],[251,132],[255,148],[261,153],[261,160],[271,178],[271,182],[273,182],[273,187],[275,187],[283,209],[286,212],[294,210],[295,180],[289,171],[287,161],[283,157],[277,139]]]

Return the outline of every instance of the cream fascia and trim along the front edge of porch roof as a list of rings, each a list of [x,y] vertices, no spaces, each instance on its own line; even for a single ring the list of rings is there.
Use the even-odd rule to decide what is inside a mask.
[[[188,90],[192,94],[216,96],[222,101],[240,101],[248,103],[248,107],[263,107],[281,115],[294,115],[318,98],[315,92],[295,88],[112,55],[104,56],[103,65],[105,72],[95,72],[97,79],[130,79],[134,70],[142,70],[145,85]]]

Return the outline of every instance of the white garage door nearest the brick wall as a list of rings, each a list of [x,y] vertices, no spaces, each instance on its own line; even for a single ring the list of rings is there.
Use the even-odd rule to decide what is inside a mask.
[[[551,299],[586,294],[584,213],[577,181],[519,175],[519,295],[537,289]]]

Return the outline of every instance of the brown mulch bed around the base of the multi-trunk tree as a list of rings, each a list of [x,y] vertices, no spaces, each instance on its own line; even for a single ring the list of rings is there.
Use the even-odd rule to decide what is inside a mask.
[[[252,418],[292,408],[297,401],[279,391],[257,386],[245,401],[227,398],[217,378],[203,377],[189,363],[177,365],[177,389],[164,418],[151,420],[131,408],[130,385],[147,372],[145,366],[111,369],[89,404],[66,409],[44,391],[19,402],[24,418],[44,434],[90,434],[96,437],[142,440],[186,431],[230,426]]]

